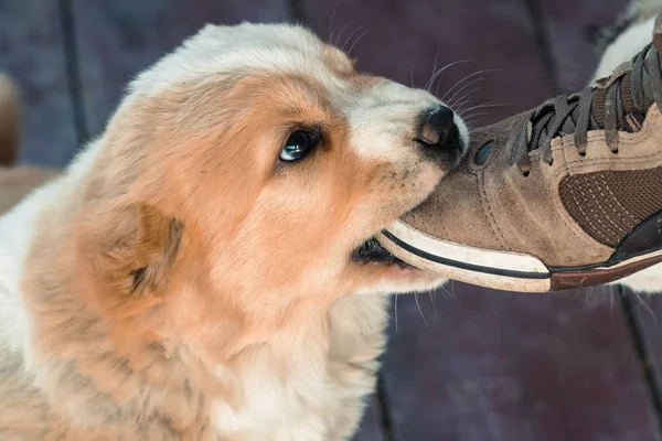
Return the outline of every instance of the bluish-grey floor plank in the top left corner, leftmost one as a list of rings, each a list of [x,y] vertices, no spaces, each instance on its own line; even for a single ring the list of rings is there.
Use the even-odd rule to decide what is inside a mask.
[[[76,131],[57,2],[0,1],[0,71],[22,92],[21,160],[63,165]]]

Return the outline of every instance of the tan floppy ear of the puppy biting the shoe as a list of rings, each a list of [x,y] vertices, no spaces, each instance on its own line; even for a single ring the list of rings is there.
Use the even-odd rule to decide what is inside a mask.
[[[146,204],[87,222],[94,233],[82,236],[78,250],[88,269],[87,291],[104,313],[129,316],[163,301],[183,227]]]

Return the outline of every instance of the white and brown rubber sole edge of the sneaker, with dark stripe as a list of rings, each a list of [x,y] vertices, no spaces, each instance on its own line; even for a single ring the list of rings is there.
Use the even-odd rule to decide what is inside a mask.
[[[548,292],[615,282],[662,262],[662,249],[612,265],[548,268],[541,259],[455,244],[426,235],[403,222],[377,235],[380,244],[403,261],[452,280],[519,292]]]

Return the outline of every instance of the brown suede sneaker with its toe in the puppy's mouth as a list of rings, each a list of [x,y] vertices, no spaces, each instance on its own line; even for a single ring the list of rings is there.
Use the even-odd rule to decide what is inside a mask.
[[[606,283],[662,261],[662,20],[653,43],[579,94],[472,135],[378,240],[451,279],[516,291]]]

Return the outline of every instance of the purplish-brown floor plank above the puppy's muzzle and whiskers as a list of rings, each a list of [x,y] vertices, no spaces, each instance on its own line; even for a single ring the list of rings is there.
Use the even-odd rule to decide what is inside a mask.
[[[478,86],[482,88],[470,94],[472,103],[460,107],[504,104],[466,110],[465,115],[483,118],[480,121],[470,118],[473,125],[493,122],[536,106],[551,93],[543,82],[545,73],[533,56],[536,46],[531,37],[528,12],[521,0],[300,0],[300,3],[307,22],[327,41],[351,49],[362,71],[425,87],[435,64],[439,68],[468,61],[449,67],[431,89],[435,92],[438,86],[437,95],[442,97],[458,80],[473,75],[446,96],[449,99],[461,89],[451,104],[457,105]],[[481,71],[494,72],[476,74]],[[462,88],[472,80],[478,82]],[[488,115],[478,115],[483,112]]]

